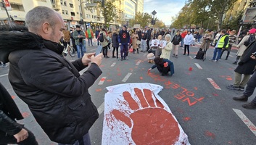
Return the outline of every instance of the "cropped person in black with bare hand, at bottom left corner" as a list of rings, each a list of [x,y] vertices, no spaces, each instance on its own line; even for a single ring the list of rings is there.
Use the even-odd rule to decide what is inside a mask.
[[[0,144],[38,144],[33,133],[16,122],[22,119],[12,96],[0,83]]]

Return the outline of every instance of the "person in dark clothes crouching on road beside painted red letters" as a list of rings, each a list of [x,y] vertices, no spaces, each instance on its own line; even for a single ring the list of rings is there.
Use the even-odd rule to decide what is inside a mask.
[[[154,65],[149,68],[148,72],[152,69],[157,67],[157,70],[162,73],[163,75],[168,75],[168,72],[170,72],[170,76],[174,74],[174,65],[173,62],[170,62],[168,59],[162,59],[160,57],[154,58]]]

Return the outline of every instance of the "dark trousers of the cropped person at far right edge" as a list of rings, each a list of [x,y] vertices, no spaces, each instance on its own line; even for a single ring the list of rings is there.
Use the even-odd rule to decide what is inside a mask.
[[[255,91],[256,87],[256,72],[253,73],[252,78],[249,79],[247,82],[247,87],[244,90],[244,96],[252,96],[253,92]],[[252,100],[256,104],[256,96],[255,99]]]

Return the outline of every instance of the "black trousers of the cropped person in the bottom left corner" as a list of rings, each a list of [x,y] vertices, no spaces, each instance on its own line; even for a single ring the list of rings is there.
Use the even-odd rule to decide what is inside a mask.
[[[24,129],[28,130],[27,128]],[[28,130],[28,138],[24,141],[20,141],[19,143],[17,143],[17,139],[14,136],[10,136],[8,134],[4,138],[0,138],[0,145],[6,144],[38,145],[35,136],[30,130]]]

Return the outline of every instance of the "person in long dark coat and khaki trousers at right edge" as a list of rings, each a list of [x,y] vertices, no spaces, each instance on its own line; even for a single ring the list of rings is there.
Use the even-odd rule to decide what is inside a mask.
[[[253,74],[255,70],[256,60],[251,58],[252,53],[256,51],[256,42],[252,42],[244,54],[241,56],[242,59],[239,65],[236,67],[235,71],[235,83],[231,86],[227,86],[231,90],[241,90],[244,91],[244,86],[246,86],[250,75]],[[244,77],[242,78],[242,75]]]

